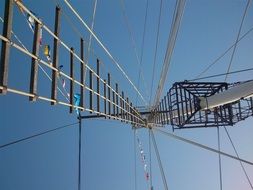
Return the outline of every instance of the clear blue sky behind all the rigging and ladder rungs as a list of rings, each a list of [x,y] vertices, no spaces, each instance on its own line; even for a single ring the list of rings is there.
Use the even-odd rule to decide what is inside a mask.
[[[60,3],[88,41],[89,33],[76,17]],[[144,25],[146,0],[125,0],[126,13],[136,40],[138,54],[141,52],[142,31]],[[0,1],[0,16],[3,17],[4,2]],[[29,1],[24,4],[36,13],[53,30],[54,0]],[[175,0],[164,0],[156,64],[154,91],[157,88],[161,66],[166,50]],[[90,25],[93,12],[93,0],[73,0],[71,4]],[[152,64],[154,59],[155,38],[159,14],[159,1],[149,0],[147,30],[145,36],[142,70],[150,93]],[[176,81],[192,79],[213,60],[229,48],[236,40],[240,21],[246,6],[246,0],[188,0],[185,7],[181,28],[165,84],[164,93]],[[251,27],[253,5],[242,27],[242,34]],[[2,31],[2,24],[0,24]],[[31,50],[32,33],[20,14],[14,8],[13,31]],[[120,7],[120,0],[98,1],[94,31],[112,55],[118,60],[129,77],[137,84],[138,63],[127,31]],[[61,37],[66,44],[73,46],[79,53],[79,37],[73,31],[65,17],[62,17]],[[13,40],[15,40],[13,38]],[[53,39],[43,31],[43,44],[52,46]],[[93,40],[93,49],[103,61],[102,73],[112,74],[113,83],[118,82],[132,102],[136,102],[134,89],[125,80],[104,51]],[[249,33],[238,45],[231,70],[252,67],[253,33]],[[41,53],[43,57],[43,54]],[[205,75],[225,73],[231,51],[224,56]],[[45,59],[45,57],[43,57]],[[96,56],[90,56],[90,65],[95,68]],[[60,49],[60,64],[69,72],[69,54]],[[79,62],[75,60],[76,68]],[[27,91],[29,89],[30,58],[17,50],[11,50],[9,68],[9,87]],[[49,72],[49,70],[47,70]],[[79,71],[75,70],[79,79]],[[228,82],[252,79],[252,73],[228,77]],[[211,81],[224,81],[224,77]],[[39,93],[49,95],[50,82],[39,70]],[[145,85],[141,82],[140,90],[144,97]],[[77,86],[75,86],[77,89]],[[153,92],[154,93],[154,92]],[[63,100],[61,96],[60,99]],[[143,102],[138,99],[138,105]],[[48,129],[76,122],[76,115],[69,114],[68,108],[47,102],[30,103],[28,98],[8,93],[0,96],[0,145],[27,137]],[[252,118],[229,127],[229,132],[238,149],[239,155],[253,161],[253,126]],[[170,126],[166,126],[170,130]],[[217,148],[216,129],[178,130],[176,134]],[[129,190],[134,189],[134,136],[132,126],[113,120],[84,120],[82,139],[82,189],[86,190]],[[148,131],[139,130],[139,136],[148,152]],[[201,150],[191,145],[169,139],[155,133],[158,148],[169,189],[171,190],[214,190],[219,189],[218,155]],[[234,154],[231,144],[221,129],[221,148]],[[147,189],[143,166],[137,151],[137,186],[138,190]],[[252,166],[244,165],[251,181]],[[239,162],[222,157],[223,189],[250,189]],[[0,150],[0,189],[1,190],[73,190],[77,189],[78,174],[78,128],[76,126],[53,132],[26,142]],[[163,189],[162,179],[152,149],[152,175],[155,190]]]

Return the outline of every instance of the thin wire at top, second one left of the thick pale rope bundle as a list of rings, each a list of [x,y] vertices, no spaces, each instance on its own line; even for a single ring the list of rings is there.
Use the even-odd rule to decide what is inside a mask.
[[[141,77],[141,67],[143,63],[143,54],[144,54],[144,43],[145,43],[145,36],[146,36],[146,27],[147,27],[147,17],[148,17],[148,5],[149,0],[146,1],[146,8],[145,8],[145,18],[144,18],[144,26],[143,26],[143,33],[142,33],[142,42],[141,42],[141,60],[140,60],[140,68],[138,73],[138,81],[137,81],[137,88],[140,88],[140,77]],[[136,106],[138,102],[138,94],[136,93]]]

